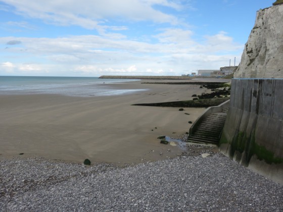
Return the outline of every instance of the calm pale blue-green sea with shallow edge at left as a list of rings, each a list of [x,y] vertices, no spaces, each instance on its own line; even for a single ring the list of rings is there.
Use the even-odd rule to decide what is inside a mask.
[[[0,94],[63,94],[69,96],[120,95],[140,89],[114,89],[111,84],[136,81],[98,77],[12,77],[0,76]]]

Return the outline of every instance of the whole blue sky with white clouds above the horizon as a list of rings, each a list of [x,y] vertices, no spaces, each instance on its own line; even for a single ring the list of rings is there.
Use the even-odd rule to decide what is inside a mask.
[[[275,0],[0,0],[0,76],[180,76],[239,65]]]

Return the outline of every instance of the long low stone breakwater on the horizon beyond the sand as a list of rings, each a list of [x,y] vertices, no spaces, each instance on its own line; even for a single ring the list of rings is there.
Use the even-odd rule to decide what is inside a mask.
[[[190,80],[187,76],[100,76],[101,79],[154,79],[154,80]]]

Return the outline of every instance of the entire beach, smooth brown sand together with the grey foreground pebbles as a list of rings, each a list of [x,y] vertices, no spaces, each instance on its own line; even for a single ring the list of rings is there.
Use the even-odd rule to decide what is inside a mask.
[[[205,109],[131,106],[205,89],[140,82],[112,85],[148,89],[117,96],[0,95],[0,210],[282,211],[281,185],[217,148],[160,144]]]

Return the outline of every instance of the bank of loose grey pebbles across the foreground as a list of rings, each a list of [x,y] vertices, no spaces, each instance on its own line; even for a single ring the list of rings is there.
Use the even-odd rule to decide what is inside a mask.
[[[126,168],[1,158],[0,211],[283,211],[283,186],[221,153]]]

